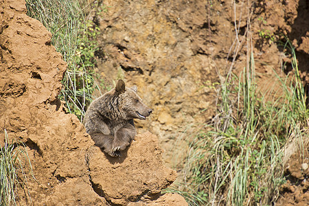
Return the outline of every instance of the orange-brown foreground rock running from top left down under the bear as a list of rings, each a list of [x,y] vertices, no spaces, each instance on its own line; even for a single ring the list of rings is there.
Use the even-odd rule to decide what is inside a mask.
[[[27,173],[29,190],[19,185],[19,203],[127,205],[145,203],[146,196],[162,200],[166,195],[161,196],[161,189],[174,181],[176,172],[163,167],[156,137],[137,137],[119,160],[93,148],[84,126],[56,98],[66,64],[51,45],[52,34],[25,14],[25,1],[1,1],[0,12],[0,144],[4,130],[9,139],[22,141],[36,178]],[[167,201],[180,198],[186,204],[176,194],[168,196]]]

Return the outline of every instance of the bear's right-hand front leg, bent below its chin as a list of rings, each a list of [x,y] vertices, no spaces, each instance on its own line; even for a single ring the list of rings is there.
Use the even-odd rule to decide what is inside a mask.
[[[113,151],[124,150],[136,135],[136,129],[132,124],[125,124],[115,133],[113,141]]]

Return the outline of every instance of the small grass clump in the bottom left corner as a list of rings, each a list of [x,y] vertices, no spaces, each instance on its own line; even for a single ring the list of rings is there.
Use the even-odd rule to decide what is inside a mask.
[[[27,176],[25,174],[25,161],[32,171],[30,159],[23,143],[8,142],[8,133],[4,130],[5,142],[0,145],[0,204],[16,205],[17,187],[27,191]],[[21,176],[20,176],[21,175]],[[31,198],[30,198],[31,203]]]

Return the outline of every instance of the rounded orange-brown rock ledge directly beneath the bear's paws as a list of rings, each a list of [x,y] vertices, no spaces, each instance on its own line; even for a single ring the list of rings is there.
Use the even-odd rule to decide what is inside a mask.
[[[116,205],[157,199],[176,179],[176,171],[163,166],[161,153],[157,137],[149,132],[137,135],[119,159],[91,148],[88,164],[95,192]]]

